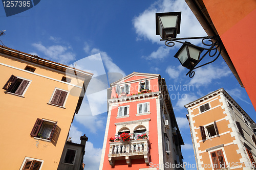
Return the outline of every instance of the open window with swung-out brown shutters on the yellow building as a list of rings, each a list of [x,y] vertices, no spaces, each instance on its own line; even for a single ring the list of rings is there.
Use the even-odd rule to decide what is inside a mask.
[[[51,141],[56,128],[56,124],[57,122],[37,118],[30,135]]]

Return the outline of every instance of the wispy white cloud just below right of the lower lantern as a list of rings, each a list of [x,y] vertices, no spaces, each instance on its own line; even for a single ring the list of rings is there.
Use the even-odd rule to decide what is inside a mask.
[[[227,66],[207,65],[195,70],[195,76],[190,80],[189,84],[195,85],[197,88],[207,86],[213,83],[214,80],[228,77],[231,74],[232,72]]]

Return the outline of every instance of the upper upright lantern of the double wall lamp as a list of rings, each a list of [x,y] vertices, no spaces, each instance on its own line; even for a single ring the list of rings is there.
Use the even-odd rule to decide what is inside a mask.
[[[176,38],[180,33],[181,12],[156,13],[156,35],[161,38]]]

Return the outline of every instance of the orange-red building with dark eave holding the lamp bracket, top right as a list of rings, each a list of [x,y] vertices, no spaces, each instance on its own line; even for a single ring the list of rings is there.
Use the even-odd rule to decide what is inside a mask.
[[[222,57],[256,108],[256,1],[185,0],[209,36],[219,36]]]

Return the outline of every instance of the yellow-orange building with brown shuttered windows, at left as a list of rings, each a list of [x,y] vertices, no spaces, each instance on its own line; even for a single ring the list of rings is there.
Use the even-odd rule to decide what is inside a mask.
[[[92,74],[0,46],[1,169],[57,169]]]

